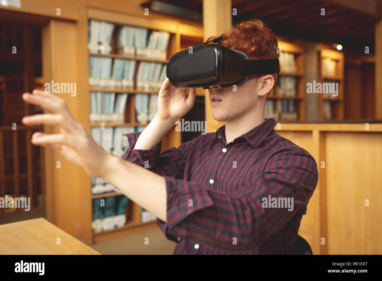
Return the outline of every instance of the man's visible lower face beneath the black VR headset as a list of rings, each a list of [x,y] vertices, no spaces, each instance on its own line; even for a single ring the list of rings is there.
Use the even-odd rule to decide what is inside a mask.
[[[259,107],[257,96],[259,85],[256,78],[249,78],[236,87],[236,92],[233,91],[232,86],[223,88],[220,85],[214,85],[208,89],[212,117],[215,120],[235,120]]]

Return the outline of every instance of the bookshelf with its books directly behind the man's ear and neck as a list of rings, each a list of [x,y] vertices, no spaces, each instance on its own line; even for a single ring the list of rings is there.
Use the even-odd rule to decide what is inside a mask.
[[[278,40],[280,47],[280,73],[276,85],[265,105],[265,118],[277,122],[305,120],[305,87],[303,47]]]

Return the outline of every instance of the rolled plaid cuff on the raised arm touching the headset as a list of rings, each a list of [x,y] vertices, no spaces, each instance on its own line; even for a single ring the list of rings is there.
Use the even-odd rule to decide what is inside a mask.
[[[141,135],[141,132],[128,133],[124,135],[128,138],[129,147],[126,149],[125,154],[123,155],[123,159],[129,161],[129,159],[132,156],[131,153],[134,153],[143,165],[145,164],[144,162],[148,161],[149,168],[155,167],[159,160],[160,149],[162,148],[162,141],[160,141],[150,149],[133,149],[133,147],[136,144],[136,141],[138,140],[139,135]]]

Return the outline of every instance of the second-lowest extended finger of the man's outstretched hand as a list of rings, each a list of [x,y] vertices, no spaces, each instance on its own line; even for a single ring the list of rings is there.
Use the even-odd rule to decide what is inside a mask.
[[[74,132],[77,129],[73,126],[73,123],[71,123],[70,120],[65,119],[65,117],[60,114],[36,114],[25,116],[21,119],[21,122],[26,126],[41,124],[59,126],[67,132]]]

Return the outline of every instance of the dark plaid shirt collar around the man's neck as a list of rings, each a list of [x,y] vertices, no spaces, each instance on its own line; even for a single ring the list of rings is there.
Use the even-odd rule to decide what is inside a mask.
[[[257,148],[257,146],[259,146],[270,133],[274,132],[276,124],[277,122],[273,118],[265,119],[264,122],[257,125],[252,130],[235,138],[233,142],[237,142],[241,138],[244,138],[251,145],[253,145],[254,148]],[[225,140],[225,125],[216,131],[215,136],[219,139]]]

